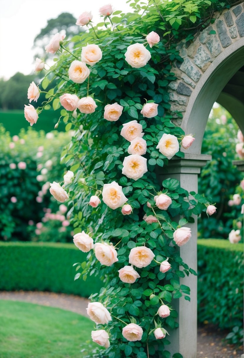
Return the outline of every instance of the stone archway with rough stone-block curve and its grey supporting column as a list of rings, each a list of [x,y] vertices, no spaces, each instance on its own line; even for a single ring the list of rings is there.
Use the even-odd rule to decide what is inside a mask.
[[[183,62],[173,65],[177,80],[171,82],[169,96],[174,121],[196,140],[184,159],[172,160],[162,178],[176,178],[183,188],[197,192],[197,175],[211,156],[201,155],[202,138],[209,113],[215,101],[222,104],[244,132],[244,3],[215,14],[209,25],[194,41],[178,44]],[[243,81],[241,82],[241,78]],[[187,224],[192,240],[180,248],[182,259],[197,269],[197,218]],[[191,302],[179,300],[179,329],[173,334],[171,353],[196,358],[197,280],[196,276],[181,281],[191,289]],[[172,339],[171,338],[171,339]],[[244,358],[244,355],[242,356]]]

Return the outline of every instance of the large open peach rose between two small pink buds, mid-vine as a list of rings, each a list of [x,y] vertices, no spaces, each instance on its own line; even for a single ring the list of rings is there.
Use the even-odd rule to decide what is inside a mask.
[[[102,198],[104,203],[111,209],[119,208],[128,200],[122,192],[122,187],[116,182],[103,185]]]

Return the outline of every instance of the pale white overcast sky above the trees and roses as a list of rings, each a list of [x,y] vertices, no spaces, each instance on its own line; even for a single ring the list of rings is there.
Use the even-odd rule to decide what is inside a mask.
[[[92,11],[94,23],[101,22],[98,9],[110,3],[114,10],[126,12],[127,0],[0,0],[0,78],[16,72],[29,74],[34,69],[32,50],[35,36],[47,20],[63,12],[76,19]]]

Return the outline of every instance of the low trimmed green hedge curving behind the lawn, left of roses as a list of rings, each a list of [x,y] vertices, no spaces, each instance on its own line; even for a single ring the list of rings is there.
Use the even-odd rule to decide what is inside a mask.
[[[87,254],[73,244],[0,242],[0,290],[52,291],[89,297],[102,287],[97,277],[74,281],[73,263]]]

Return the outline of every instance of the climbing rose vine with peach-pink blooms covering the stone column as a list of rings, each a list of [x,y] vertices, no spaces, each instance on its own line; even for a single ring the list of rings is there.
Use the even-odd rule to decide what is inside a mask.
[[[167,85],[175,78],[153,4],[141,15],[106,5],[99,10],[103,23],[93,26],[86,12],[76,24],[88,31],[70,41],[54,35],[46,51],[55,53],[55,64],[42,81],[47,100],[36,110],[25,107],[33,125],[51,104],[61,106],[59,121],[74,130],[61,154],[70,170],[50,193],[67,202],[74,244],[88,253],[75,264],[75,279],[103,282],[96,292],[94,281],[87,313],[96,324],[92,340],[104,348],[89,357],[170,357],[168,332],[178,326],[172,299],[190,301],[180,278],[196,275],[179,246],[192,240],[192,214],[212,204],[165,174],[169,160],[184,156],[180,145],[189,148],[194,137],[171,121]],[[171,56],[180,60],[177,52]],[[36,59],[36,71],[44,66]],[[30,85],[30,102],[39,91]]]

